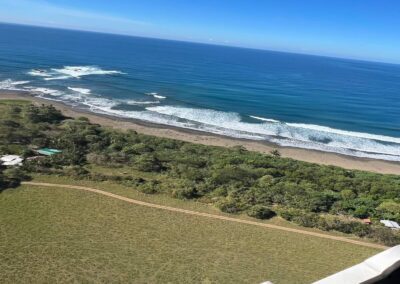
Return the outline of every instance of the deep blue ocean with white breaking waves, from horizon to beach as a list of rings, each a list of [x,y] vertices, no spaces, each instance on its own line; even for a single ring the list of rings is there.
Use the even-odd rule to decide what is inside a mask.
[[[400,161],[400,65],[1,24],[0,89],[108,115]]]

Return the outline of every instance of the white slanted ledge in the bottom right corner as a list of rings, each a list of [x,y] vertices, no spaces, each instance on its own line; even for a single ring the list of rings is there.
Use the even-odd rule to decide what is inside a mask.
[[[400,246],[395,246],[314,284],[377,283],[399,268]]]

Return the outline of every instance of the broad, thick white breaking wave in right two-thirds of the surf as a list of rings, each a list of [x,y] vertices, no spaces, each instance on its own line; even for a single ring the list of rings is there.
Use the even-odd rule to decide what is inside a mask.
[[[347,155],[362,157],[376,157],[387,160],[400,161],[400,138],[374,135],[368,133],[350,132],[328,127],[297,125],[293,123],[246,123],[240,120],[236,113],[226,113],[207,109],[193,109],[171,106],[157,106],[147,108],[149,111],[187,119],[200,123],[199,128],[211,129],[211,132],[225,132],[235,137],[245,135],[262,137],[273,140],[282,146],[310,148],[331,152],[340,152]],[[282,139],[284,138],[284,139]],[[363,153],[363,154],[361,154]]]

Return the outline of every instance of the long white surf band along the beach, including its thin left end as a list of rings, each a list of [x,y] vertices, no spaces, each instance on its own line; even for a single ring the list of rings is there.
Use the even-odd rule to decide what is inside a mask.
[[[307,148],[345,155],[400,161],[400,138],[368,133],[351,132],[325,126],[285,123],[271,119],[259,119],[260,123],[243,122],[233,112],[178,106],[151,106],[153,101],[112,100],[84,96],[81,93],[66,94],[61,91],[32,88],[69,102],[87,106],[93,112],[134,118],[153,123],[195,129],[237,138],[267,140],[281,146]],[[57,96],[57,97],[54,97]],[[115,109],[120,103],[149,104],[145,111]],[[257,119],[257,118],[256,118]]]

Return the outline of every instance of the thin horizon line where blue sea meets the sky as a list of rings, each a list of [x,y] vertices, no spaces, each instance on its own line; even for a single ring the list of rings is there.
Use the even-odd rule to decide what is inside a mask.
[[[163,37],[140,36],[140,35],[127,34],[127,33],[113,33],[113,32],[104,32],[104,31],[96,31],[96,30],[73,29],[73,28],[54,27],[54,26],[46,26],[46,25],[32,25],[32,24],[24,24],[24,23],[3,22],[1,20],[0,20],[0,24],[42,28],[42,29],[54,29],[54,30],[62,30],[62,31],[95,33],[95,34],[104,34],[104,35],[112,35],[112,36],[126,36],[126,37],[134,37],[134,38],[153,39],[153,40],[175,41],[175,42],[182,42],[182,43],[221,46],[221,47],[228,47],[228,48],[249,49],[249,50],[257,50],[257,51],[286,53],[286,54],[304,55],[304,56],[313,56],[313,57],[323,57],[323,58],[330,58],[330,59],[359,61],[359,62],[366,62],[366,63],[388,64],[388,65],[395,65],[395,66],[400,65],[400,62],[388,62],[388,61],[380,61],[380,60],[372,60],[372,59],[340,57],[340,56],[333,56],[333,55],[303,53],[303,52],[298,52],[298,51],[284,51],[284,50],[275,50],[275,49],[268,49],[268,48],[256,48],[256,47],[248,47],[248,46],[241,46],[241,45],[228,45],[228,44],[217,43],[217,42],[190,41],[190,40],[184,40],[184,39],[171,39],[171,38],[163,38]]]

